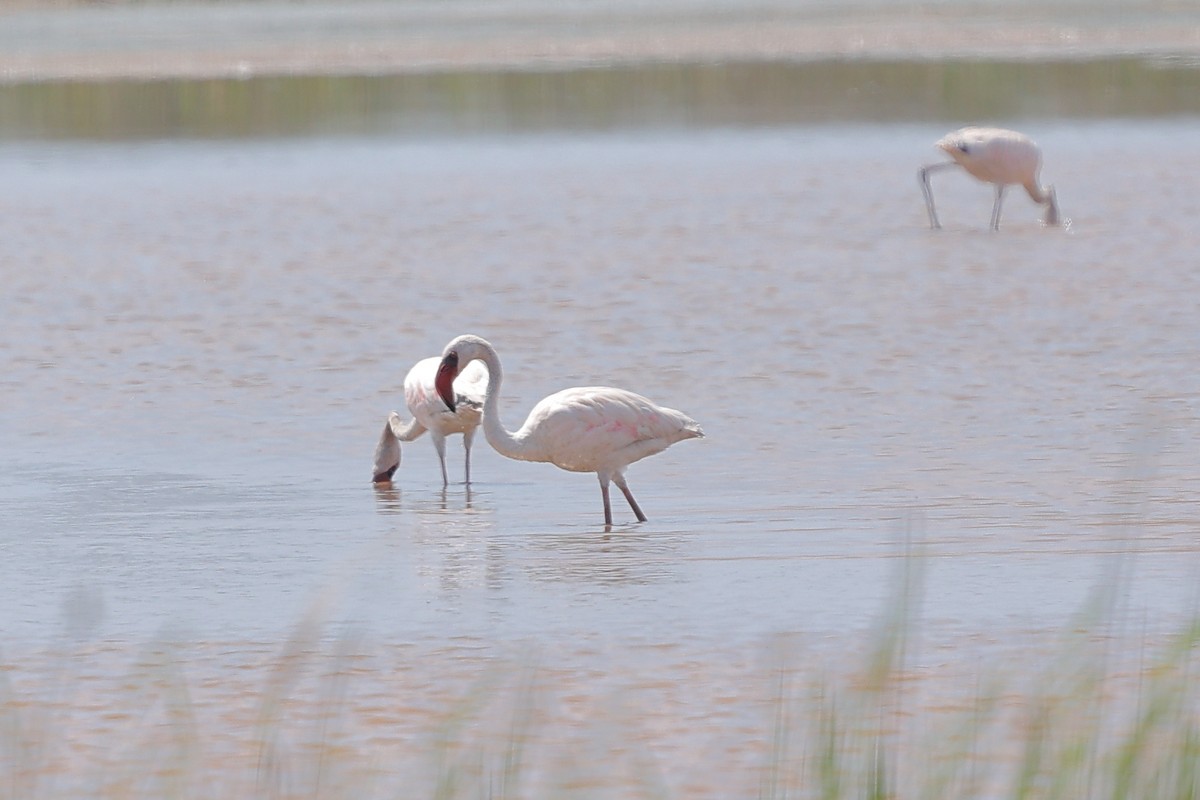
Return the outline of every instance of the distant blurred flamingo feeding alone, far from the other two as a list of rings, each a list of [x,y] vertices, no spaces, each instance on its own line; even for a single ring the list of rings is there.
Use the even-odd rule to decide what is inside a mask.
[[[947,133],[934,146],[944,150],[954,161],[926,164],[917,173],[925,192],[930,228],[942,225],[934,210],[934,190],[929,185],[929,174],[949,167],[962,167],[970,175],[996,186],[996,204],[991,209],[992,230],[1000,230],[1000,206],[1004,201],[1004,190],[1013,185],[1024,186],[1034,203],[1046,206],[1045,224],[1058,224],[1058,198],[1054,186],[1038,184],[1042,149],[1033,139],[1004,128],[961,128]]]

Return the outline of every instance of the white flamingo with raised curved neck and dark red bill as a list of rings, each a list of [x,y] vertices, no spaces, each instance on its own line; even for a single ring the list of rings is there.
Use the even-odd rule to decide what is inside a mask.
[[[572,473],[595,473],[604,498],[604,522],[612,527],[608,482],[629,501],[638,522],[646,515],[625,483],[625,468],[662,452],[677,441],[703,437],[695,420],[682,411],[655,405],[641,395],[608,386],[564,389],[533,407],[516,433],[500,422],[500,357],[487,341],[472,335],[450,342],[442,354],[434,381],[438,395],[454,411],[457,398],[452,384],[475,361],[487,366],[484,393],[484,435],[502,456],[517,461],[554,464]]]

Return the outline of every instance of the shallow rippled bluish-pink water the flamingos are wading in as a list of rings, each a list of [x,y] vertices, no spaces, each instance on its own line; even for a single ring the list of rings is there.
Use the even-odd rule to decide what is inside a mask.
[[[998,234],[956,174],[926,228],[916,169],[950,125],[908,118],[0,145],[0,690],[50,697],[46,741],[70,742],[29,786],[178,764],[154,726],[182,685],[199,784],[260,794],[246,732],[282,686],[311,700],[298,741],[395,796],[388,776],[428,777],[414,739],[535,652],[547,736],[594,756],[572,758],[641,742],[674,796],[740,796],[779,637],[844,672],[907,548],[928,678],[1068,627],[1115,575],[1117,636],[1178,628],[1200,140],[1194,118],[1088,108],[1021,125],[1070,224],[1012,193]],[[448,491],[427,440],[373,488],[404,373],[462,332],[500,351],[509,427],[611,384],[707,438],[631,468],[650,519],[618,503],[610,533],[593,477],[482,437],[470,492],[458,439]],[[298,652],[308,682],[281,666]]]

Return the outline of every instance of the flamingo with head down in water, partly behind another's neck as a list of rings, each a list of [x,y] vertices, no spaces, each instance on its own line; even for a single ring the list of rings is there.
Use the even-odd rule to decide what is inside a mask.
[[[376,483],[391,481],[400,467],[400,443],[413,441],[426,431],[430,432],[433,449],[438,451],[438,459],[442,462],[443,487],[450,483],[446,479],[446,437],[452,433],[462,434],[462,446],[467,451],[467,483],[470,483],[470,443],[475,438],[484,407],[487,371],[482,365],[474,365],[473,369],[462,372],[454,381],[457,397],[452,409],[448,411],[433,386],[440,361],[437,356],[421,359],[404,377],[404,402],[413,419],[406,423],[395,411],[388,415],[376,446]]]

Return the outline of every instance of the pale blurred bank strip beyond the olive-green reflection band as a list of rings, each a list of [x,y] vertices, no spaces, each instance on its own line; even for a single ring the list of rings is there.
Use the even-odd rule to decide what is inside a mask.
[[[672,0],[0,5],[7,82],[660,61],[1200,54],[1194,6]]]

